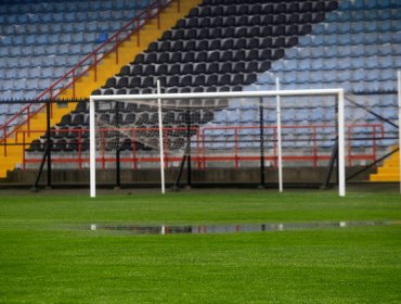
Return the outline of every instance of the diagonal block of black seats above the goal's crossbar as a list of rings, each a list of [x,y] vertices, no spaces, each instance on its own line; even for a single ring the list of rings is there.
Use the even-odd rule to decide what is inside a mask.
[[[336,7],[336,1],[204,1],[94,93],[155,91],[156,78],[178,91],[211,86],[217,91],[242,90]]]

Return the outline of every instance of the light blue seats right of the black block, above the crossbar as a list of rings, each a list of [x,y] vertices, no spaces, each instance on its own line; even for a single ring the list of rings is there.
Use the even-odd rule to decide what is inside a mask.
[[[397,1],[341,1],[311,35],[259,75],[258,88],[274,86],[279,77],[287,89],[324,86],[357,93],[394,92],[394,69],[401,62],[400,14]]]

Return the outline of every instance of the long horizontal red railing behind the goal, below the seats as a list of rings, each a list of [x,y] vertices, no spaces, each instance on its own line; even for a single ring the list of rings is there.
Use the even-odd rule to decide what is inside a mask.
[[[372,138],[370,138],[370,140],[372,140],[371,153],[366,153],[364,151],[363,153],[361,152],[361,153],[358,153],[358,154],[355,154],[355,153],[351,154],[351,144],[357,139],[351,138],[350,135],[352,134],[352,129],[361,128],[361,127],[372,130],[370,132],[372,135]],[[310,136],[310,139],[308,139],[308,141],[311,141],[311,153],[309,155],[287,154],[287,155],[283,156],[284,161],[293,161],[293,162],[305,162],[305,161],[307,161],[307,162],[311,162],[313,167],[316,167],[320,161],[329,160],[329,153],[327,153],[328,151],[322,152],[319,149],[318,135],[322,134],[322,129],[324,129],[324,128],[335,129],[334,125],[282,126],[282,128],[283,129],[294,129],[294,130],[302,129],[302,130],[305,130],[303,134],[307,134],[307,135]],[[244,154],[244,153],[242,153],[242,149],[240,149],[240,142],[242,142],[240,131],[246,130],[246,129],[258,130],[259,126],[206,127],[206,128],[200,128],[200,129],[195,128],[195,127],[191,128],[191,130],[193,132],[195,132],[195,135],[196,135],[196,148],[192,149],[192,152],[193,152],[192,161],[196,163],[196,166],[197,166],[198,169],[206,168],[207,163],[209,163],[209,162],[233,162],[234,167],[238,168],[240,167],[240,162],[243,162],[243,161],[259,161],[260,155],[258,153],[253,153],[251,155]],[[272,162],[274,167],[276,167],[277,166],[276,126],[268,126],[268,127],[264,127],[263,129],[267,130],[267,131],[270,130],[270,134],[267,134],[267,132],[264,134],[264,138],[267,138],[266,143],[264,143],[264,145],[267,147],[266,149],[268,150],[269,144],[271,144],[270,145],[270,151],[266,151],[266,153],[264,153],[264,155],[266,155],[264,160]],[[139,156],[137,154],[137,144],[138,144],[138,142],[140,142],[140,140],[138,140],[138,132],[140,132],[140,131],[155,131],[155,132],[158,132],[158,128],[101,129],[100,130],[101,153],[100,153],[100,156],[96,159],[96,162],[101,163],[102,169],[106,168],[107,163],[115,163],[116,162],[116,157],[109,156],[105,152],[105,150],[106,150],[105,147],[106,147],[106,143],[107,143],[105,132],[113,131],[113,130],[121,130],[121,131],[125,131],[125,134],[130,134],[131,135],[131,144],[132,144],[131,155],[129,157],[128,156],[121,157],[120,162],[122,162],[122,163],[132,163],[132,168],[133,169],[138,168],[139,163],[157,163],[157,162],[159,162],[158,155],[157,156],[153,156],[153,155]],[[176,130],[185,131],[186,128],[185,127],[164,128],[164,139],[165,139],[164,143],[165,143],[165,147],[168,147],[169,132],[170,131],[176,131]],[[215,135],[212,135],[212,132],[217,132],[217,131],[221,131],[221,130],[225,131],[225,136],[227,136],[228,130],[232,131],[231,135],[232,135],[233,140],[230,140],[230,138],[229,138],[229,141],[233,142],[233,144],[234,144],[233,149],[232,149],[232,153],[231,154],[222,154],[222,151],[221,150],[219,151],[217,149],[217,150],[215,150],[215,153],[212,153],[214,155],[211,155],[211,154],[208,153],[208,149],[210,147],[207,147],[207,143],[216,142],[216,140],[209,140],[208,137],[209,136],[215,136]],[[31,132],[43,134],[44,130],[17,131],[16,136],[15,136],[15,140],[17,141],[17,138],[20,136],[23,137],[23,143],[22,143],[23,148],[22,149],[24,149],[25,145],[29,144],[29,141],[27,141],[27,135],[31,134]],[[67,157],[63,157],[63,159],[54,157],[52,160],[53,163],[76,163],[76,164],[78,164],[79,169],[82,168],[82,165],[85,163],[89,164],[89,155],[88,155],[88,153],[83,153],[85,151],[82,151],[82,138],[83,138],[82,134],[83,132],[89,132],[89,129],[64,129],[64,130],[52,130],[52,132],[77,132],[77,136],[76,136],[77,140],[74,143],[78,144],[78,149],[74,153],[73,157],[72,156],[67,156]],[[209,132],[209,134],[207,134],[207,132]],[[267,136],[267,135],[269,135],[269,136]],[[347,126],[347,135],[348,135],[347,136],[347,151],[348,151],[347,161],[348,161],[349,166],[352,165],[353,160],[359,160],[359,161],[361,161],[361,160],[375,161],[376,160],[376,156],[377,156],[376,155],[376,151],[377,151],[376,135],[380,135],[379,138],[384,138],[384,126],[381,124],[349,125],[349,126]],[[224,151],[230,151],[230,150],[224,149]],[[24,157],[23,157],[23,168],[24,169],[26,168],[27,164],[37,164],[37,163],[41,162],[41,157],[39,157],[39,159],[33,159],[33,157],[27,159],[26,155],[25,155],[25,150],[24,150],[23,154],[24,154]],[[179,162],[179,161],[181,161],[181,155],[178,155],[178,154],[174,155],[173,153],[169,152],[169,149],[165,149],[165,166],[166,166],[166,168],[169,166],[169,163]]]

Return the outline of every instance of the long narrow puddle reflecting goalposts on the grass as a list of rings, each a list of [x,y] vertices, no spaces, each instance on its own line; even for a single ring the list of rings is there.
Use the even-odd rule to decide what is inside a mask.
[[[210,233],[241,233],[264,231],[311,230],[346,227],[393,226],[401,225],[401,220],[376,221],[310,221],[282,224],[248,224],[248,225],[202,225],[202,226],[141,226],[141,225],[102,225],[91,224],[89,229],[125,231],[132,235],[210,235]]]

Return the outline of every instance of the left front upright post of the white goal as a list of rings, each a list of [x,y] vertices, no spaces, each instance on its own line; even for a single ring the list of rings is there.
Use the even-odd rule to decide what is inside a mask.
[[[90,151],[90,197],[96,197],[96,145],[94,125],[94,100],[89,100],[89,151]]]

